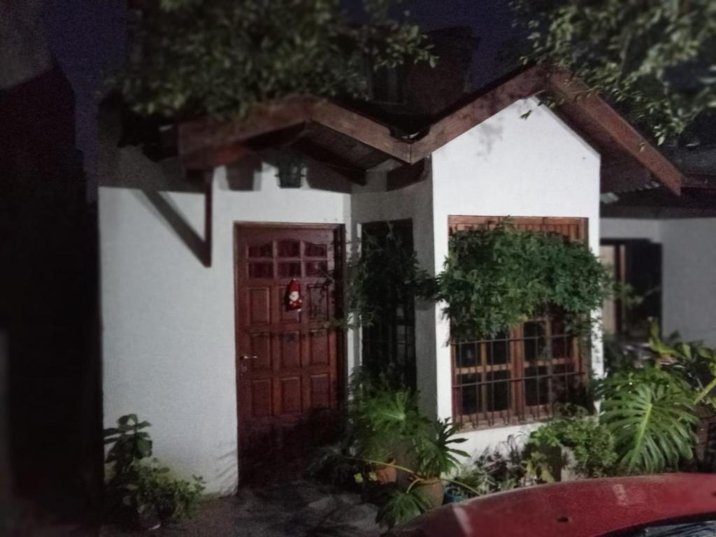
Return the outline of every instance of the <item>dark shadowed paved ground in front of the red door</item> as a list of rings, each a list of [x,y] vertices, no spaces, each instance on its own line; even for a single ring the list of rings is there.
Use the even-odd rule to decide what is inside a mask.
[[[295,481],[205,502],[198,515],[144,533],[102,528],[102,537],[374,537],[376,507],[329,485]]]

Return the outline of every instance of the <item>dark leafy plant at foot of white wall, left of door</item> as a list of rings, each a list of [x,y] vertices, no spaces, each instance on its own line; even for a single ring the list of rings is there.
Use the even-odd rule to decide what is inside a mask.
[[[152,441],[134,414],[117,420],[117,427],[105,429],[107,452],[107,514],[120,523],[136,523],[142,518],[158,517],[176,521],[192,516],[204,490],[203,479],[172,478],[169,468],[157,460],[147,462]]]

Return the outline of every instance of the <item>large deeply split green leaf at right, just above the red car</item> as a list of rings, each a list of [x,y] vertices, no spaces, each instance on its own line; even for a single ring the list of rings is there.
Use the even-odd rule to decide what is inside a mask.
[[[601,392],[600,422],[614,435],[621,469],[654,473],[692,458],[698,419],[683,379],[647,366],[612,374]]]

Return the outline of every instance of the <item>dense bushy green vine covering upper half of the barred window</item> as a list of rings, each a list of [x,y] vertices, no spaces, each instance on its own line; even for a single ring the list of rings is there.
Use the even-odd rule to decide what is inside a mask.
[[[453,333],[465,339],[494,336],[552,307],[589,316],[614,290],[588,246],[509,222],[450,237],[437,281]]]

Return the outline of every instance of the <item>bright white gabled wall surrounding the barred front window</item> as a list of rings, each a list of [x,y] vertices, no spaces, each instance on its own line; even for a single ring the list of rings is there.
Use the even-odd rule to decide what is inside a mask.
[[[521,115],[532,110],[531,115]],[[599,154],[547,107],[518,101],[432,155],[435,271],[448,253],[448,216],[565,216],[589,218],[589,245],[599,251]],[[452,416],[450,325],[435,310],[437,414]],[[593,367],[601,374],[596,342]],[[479,453],[529,427],[468,432],[463,446]]]

